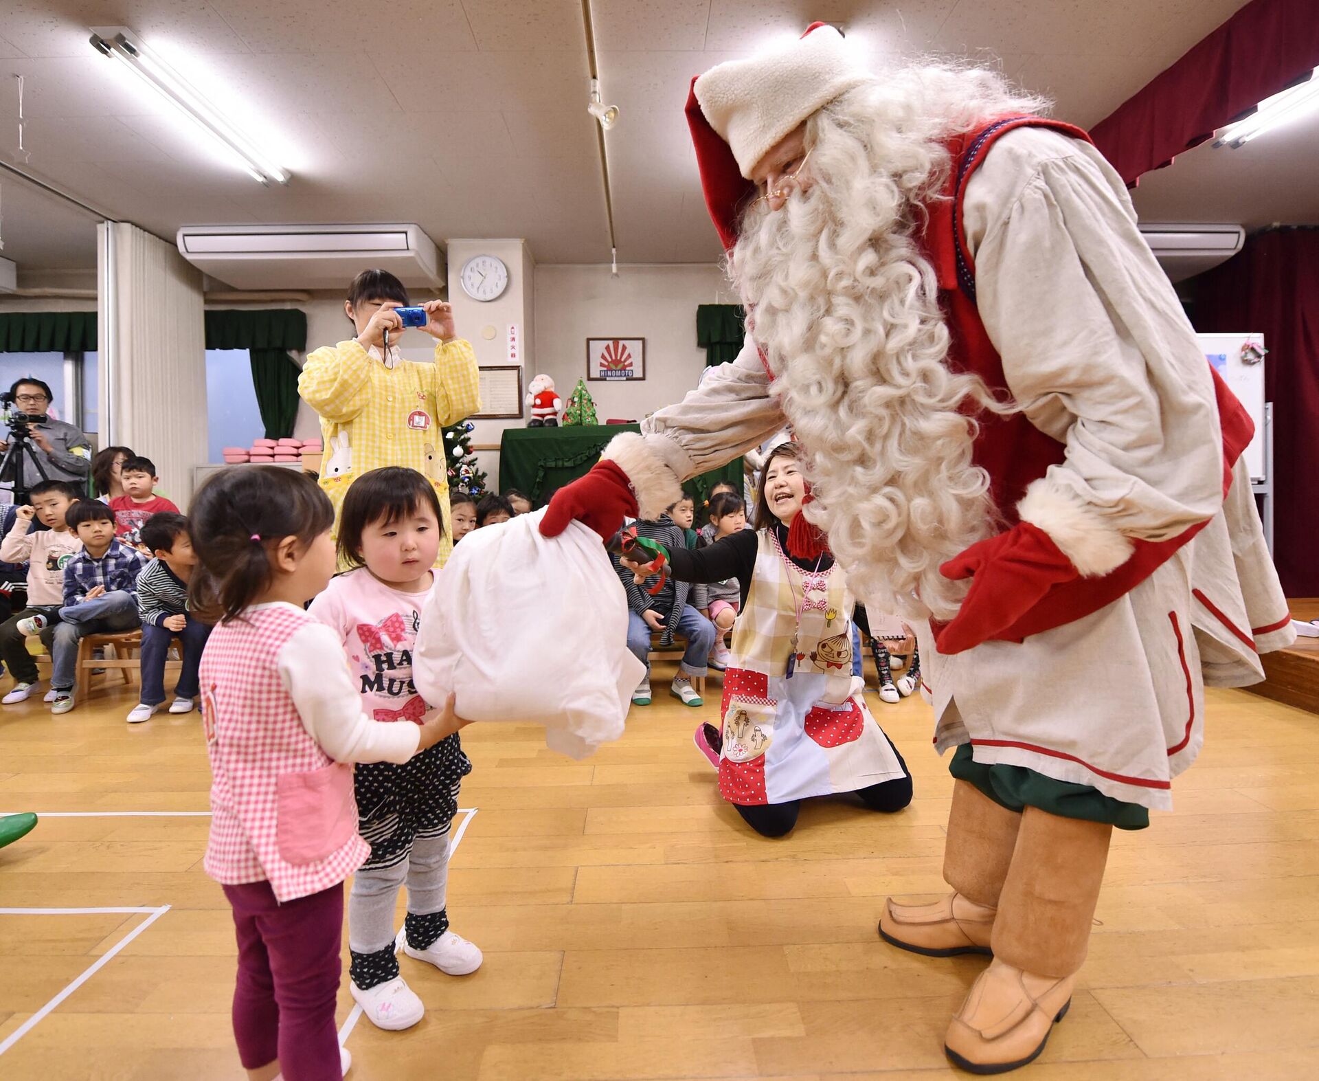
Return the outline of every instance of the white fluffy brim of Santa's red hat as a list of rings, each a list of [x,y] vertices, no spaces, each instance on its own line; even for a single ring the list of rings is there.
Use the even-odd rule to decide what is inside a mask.
[[[749,178],[783,136],[869,78],[838,28],[815,22],[797,41],[711,67],[694,90],[710,127]]]

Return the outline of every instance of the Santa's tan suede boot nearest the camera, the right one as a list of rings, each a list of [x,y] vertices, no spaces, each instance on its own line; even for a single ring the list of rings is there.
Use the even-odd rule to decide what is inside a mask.
[[[991,936],[995,960],[944,1039],[955,1065],[1005,1073],[1045,1049],[1086,961],[1112,833],[1026,808]]]

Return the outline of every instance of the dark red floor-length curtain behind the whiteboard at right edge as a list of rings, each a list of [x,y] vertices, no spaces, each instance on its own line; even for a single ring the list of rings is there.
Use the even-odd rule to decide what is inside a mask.
[[[1196,285],[1196,330],[1264,333],[1273,561],[1287,597],[1319,597],[1319,227],[1256,234]]]

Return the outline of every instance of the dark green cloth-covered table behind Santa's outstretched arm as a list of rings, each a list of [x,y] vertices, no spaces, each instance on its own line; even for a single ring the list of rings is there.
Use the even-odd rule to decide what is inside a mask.
[[[566,425],[562,428],[509,428],[504,432],[499,454],[499,490],[525,492],[533,507],[543,507],[555,491],[586,474],[598,461],[604,445],[620,432],[640,432],[636,424]],[[710,490],[728,480],[743,490],[743,459],[692,476],[683,491],[700,507]],[[696,513],[696,525],[703,525]]]

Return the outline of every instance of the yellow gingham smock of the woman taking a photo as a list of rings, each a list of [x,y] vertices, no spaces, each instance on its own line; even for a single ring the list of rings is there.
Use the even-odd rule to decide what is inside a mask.
[[[356,339],[339,342],[307,356],[298,393],[321,414],[321,487],[334,504],[335,525],[344,492],[361,474],[381,466],[419,470],[439,496],[445,536],[435,565],[443,566],[454,545],[441,429],[480,412],[471,342],[438,341],[433,364],[404,360],[393,344],[384,355]]]

